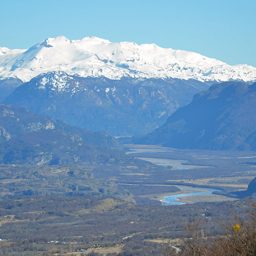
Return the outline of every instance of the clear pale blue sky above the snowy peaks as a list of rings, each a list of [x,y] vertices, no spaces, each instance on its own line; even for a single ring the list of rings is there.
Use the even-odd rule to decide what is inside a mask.
[[[256,67],[256,0],[2,0],[0,8],[0,46],[8,48],[98,36]]]

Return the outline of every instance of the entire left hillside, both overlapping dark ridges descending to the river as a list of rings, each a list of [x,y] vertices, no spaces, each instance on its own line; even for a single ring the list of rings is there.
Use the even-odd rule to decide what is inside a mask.
[[[123,148],[107,132],[88,131],[19,106],[0,104],[0,164],[102,163],[126,159]]]

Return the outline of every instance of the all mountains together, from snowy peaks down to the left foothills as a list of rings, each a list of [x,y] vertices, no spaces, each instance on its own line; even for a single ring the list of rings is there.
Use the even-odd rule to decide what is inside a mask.
[[[194,52],[63,36],[26,50],[2,47],[0,91],[4,197],[133,201],[106,180],[171,176],[171,168],[126,155],[121,143],[256,150],[256,68]]]

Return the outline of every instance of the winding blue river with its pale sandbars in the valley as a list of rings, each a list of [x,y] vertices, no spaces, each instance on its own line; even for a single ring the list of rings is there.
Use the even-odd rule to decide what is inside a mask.
[[[126,145],[129,148],[129,151],[126,154],[134,155],[137,158],[151,162],[156,165],[161,166],[170,166],[172,167],[172,172],[175,170],[190,170],[194,169],[195,171],[200,168],[206,168],[212,166],[204,166],[204,165],[196,165],[190,164],[189,160],[186,159],[172,159],[173,152],[175,149],[165,148],[161,146],[154,145]],[[161,154],[162,153],[162,154]],[[170,158],[166,157],[169,156]],[[191,153],[193,155],[193,153]],[[148,156],[148,157],[147,157]],[[160,156],[164,156],[160,157]],[[175,180],[173,180],[175,184]],[[193,183],[189,181],[190,183]],[[132,184],[131,184],[132,185]],[[135,185],[135,184],[134,184]],[[150,186],[160,186],[159,184],[150,184]],[[196,184],[195,184],[196,185]],[[211,184],[212,186],[213,184]],[[168,186],[168,185],[162,185]],[[165,194],[151,194],[145,195],[143,197],[150,197],[154,200],[159,200],[162,202],[162,205],[180,205],[186,203],[195,203],[195,202],[222,202],[226,200],[236,200],[236,198],[231,198],[228,196],[222,196],[218,194],[212,194],[214,191],[220,191],[219,189],[215,189],[214,187],[207,188],[207,184],[205,187],[197,187],[197,186],[181,186],[174,185],[179,188],[180,192],[170,192]]]

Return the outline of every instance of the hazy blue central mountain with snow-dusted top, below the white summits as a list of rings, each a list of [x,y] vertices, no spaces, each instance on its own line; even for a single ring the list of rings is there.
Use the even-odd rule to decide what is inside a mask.
[[[209,88],[196,80],[83,78],[48,72],[22,84],[3,102],[68,124],[113,135],[151,132],[192,96]]]

